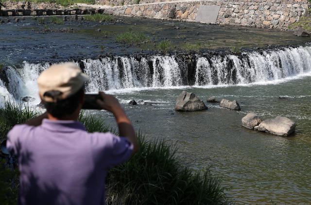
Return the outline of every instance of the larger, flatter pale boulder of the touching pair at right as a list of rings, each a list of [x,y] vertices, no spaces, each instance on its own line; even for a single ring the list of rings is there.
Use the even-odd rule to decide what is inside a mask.
[[[296,123],[286,117],[277,116],[274,119],[263,120],[255,130],[279,136],[289,136],[294,133]]]

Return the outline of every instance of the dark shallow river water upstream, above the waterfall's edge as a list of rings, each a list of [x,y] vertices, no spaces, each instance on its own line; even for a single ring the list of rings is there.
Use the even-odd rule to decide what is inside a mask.
[[[201,42],[207,45],[207,49],[304,45],[311,42],[310,37],[297,37],[291,32],[134,17],[114,17],[113,21],[103,23],[65,21],[63,25],[52,24],[50,17],[45,17],[44,24],[40,24],[39,18],[25,17],[19,23],[0,25],[0,61],[41,63],[94,58],[107,53],[152,53],[156,52],[152,50],[156,50],[155,45],[161,40],[170,40],[172,50],[182,50],[185,42]],[[42,33],[47,28],[54,32]],[[73,33],[57,32],[68,28],[73,29]],[[130,30],[143,32],[150,37],[150,42],[135,46],[116,43],[116,35]]]

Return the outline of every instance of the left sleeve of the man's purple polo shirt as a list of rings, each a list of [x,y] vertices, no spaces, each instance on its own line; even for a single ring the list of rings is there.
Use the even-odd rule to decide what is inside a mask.
[[[24,134],[26,130],[30,130],[32,126],[26,124],[15,125],[7,134],[6,148],[14,155],[18,155],[21,149],[20,135]]]

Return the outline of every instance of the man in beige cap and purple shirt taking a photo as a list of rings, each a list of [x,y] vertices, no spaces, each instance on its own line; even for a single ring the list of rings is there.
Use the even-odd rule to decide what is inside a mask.
[[[113,96],[100,92],[97,103],[114,114],[122,137],[90,134],[77,122],[87,81],[73,63],[53,65],[39,76],[47,112],[13,127],[7,140],[18,158],[19,204],[104,204],[107,170],[137,152],[135,131]]]

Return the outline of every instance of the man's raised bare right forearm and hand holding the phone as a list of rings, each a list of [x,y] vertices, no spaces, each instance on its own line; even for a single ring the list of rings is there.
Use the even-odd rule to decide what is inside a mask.
[[[138,141],[135,130],[131,121],[127,118],[119,101],[112,95],[107,95],[104,92],[99,92],[103,100],[97,100],[97,103],[109,112],[112,112],[119,126],[119,134],[121,137],[126,137],[134,146],[133,154],[138,151]]]

